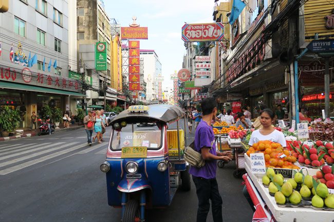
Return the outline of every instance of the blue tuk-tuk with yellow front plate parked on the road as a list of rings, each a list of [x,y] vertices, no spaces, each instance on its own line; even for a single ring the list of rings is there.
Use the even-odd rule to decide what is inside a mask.
[[[177,106],[131,106],[112,120],[100,170],[106,173],[108,205],[122,209],[123,222],[145,221],[145,209],[168,207],[178,187],[190,190],[183,116]],[[169,129],[175,122],[176,129]]]

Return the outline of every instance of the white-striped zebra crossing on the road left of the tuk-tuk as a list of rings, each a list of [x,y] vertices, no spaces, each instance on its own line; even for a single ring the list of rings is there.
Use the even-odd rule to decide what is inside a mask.
[[[46,142],[30,144],[0,144],[0,176],[52,159],[55,162],[71,155],[106,154],[107,143],[88,146],[77,142]],[[57,157],[59,157],[57,159]],[[54,160],[57,159],[57,160]]]

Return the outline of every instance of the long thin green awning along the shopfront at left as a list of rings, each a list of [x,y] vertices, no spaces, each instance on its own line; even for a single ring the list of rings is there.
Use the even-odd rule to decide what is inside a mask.
[[[44,88],[44,87],[39,87],[39,86],[32,86],[32,85],[25,85],[25,84],[11,83],[11,82],[3,82],[3,81],[0,81],[0,88],[27,90],[27,91],[33,91],[33,92],[45,92],[45,93],[54,93],[54,94],[86,96],[85,94],[82,94],[82,93],[79,93],[79,92],[71,92],[71,91],[66,91],[66,90],[51,89],[51,88]]]

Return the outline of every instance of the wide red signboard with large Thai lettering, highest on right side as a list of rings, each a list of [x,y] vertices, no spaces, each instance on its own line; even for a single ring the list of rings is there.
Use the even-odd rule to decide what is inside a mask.
[[[221,41],[224,38],[222,23],[185,24],[182,27],[184,42]]]

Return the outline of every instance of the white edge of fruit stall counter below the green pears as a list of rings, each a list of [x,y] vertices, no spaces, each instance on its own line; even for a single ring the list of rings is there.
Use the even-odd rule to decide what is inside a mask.
[[[262,184],[262,177],[256,177],[251,173],[250,165],[246,161],[246,171],[252,180],[256,191],[262,196],[265,204],[271,211],[275,221],[277,222],[332,222],[334,219],[333,211],[314,210],[305,207],[280,207],[276,204],[275,198],[270,196],[268,188]]]

